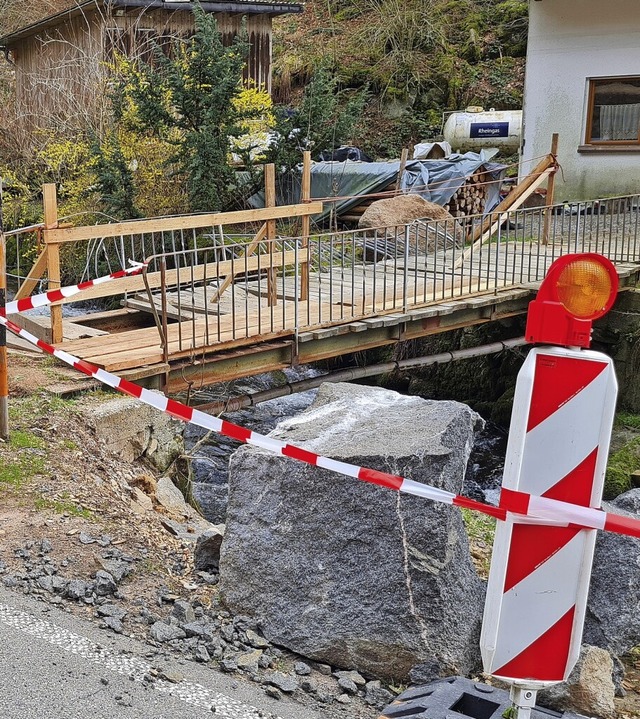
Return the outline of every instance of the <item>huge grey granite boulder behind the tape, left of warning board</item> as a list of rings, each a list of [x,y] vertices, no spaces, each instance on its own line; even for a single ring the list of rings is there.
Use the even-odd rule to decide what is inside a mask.
[[[271,436],[460,492],[481,424],[457,402],[325,384]],[[231,611],[273,643],[380,678],[477,667],[484,587],[457,509],[251,446],[229,469],[220,580]]]

